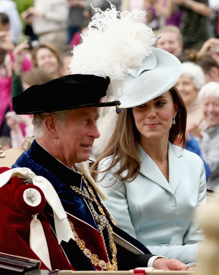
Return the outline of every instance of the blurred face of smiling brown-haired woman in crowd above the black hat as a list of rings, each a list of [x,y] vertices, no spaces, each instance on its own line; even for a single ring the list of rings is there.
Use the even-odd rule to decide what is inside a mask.
[[[48,48],[40,48],[36,53],[36,62],[39,68],[44,69],[50,74],[59,70],[58,60]]]

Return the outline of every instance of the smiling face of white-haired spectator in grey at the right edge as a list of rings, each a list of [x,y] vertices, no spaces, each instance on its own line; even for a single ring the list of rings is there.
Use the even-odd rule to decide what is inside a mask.
[[[210,128],[219,124],[219,99],[215,97],[205,97],[202,99],[202,110],[204,118]]]

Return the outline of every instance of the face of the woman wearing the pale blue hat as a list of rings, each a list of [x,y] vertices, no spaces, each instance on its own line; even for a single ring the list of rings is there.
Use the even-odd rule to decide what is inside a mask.
[[[141,140],[169,138],[173,117],[178,107],[173,103],[171,92],[165,92],[147,103],[132,108],[135,125]],[[174,126],[173,126],[174,127]]]

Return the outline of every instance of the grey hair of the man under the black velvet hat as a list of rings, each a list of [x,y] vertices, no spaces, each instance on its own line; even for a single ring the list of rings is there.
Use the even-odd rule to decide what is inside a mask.
[[[67,117],[71,116],[75,112],[75,109],[72,110],[63,110],[51,113],[41,113],[41,114],[34,114],[33,115],[33,136],[40,138],[44,134],[44,123],[43,120],[45,117],[51,115],[57,120],[61,127],[65,126],[65,121]]]

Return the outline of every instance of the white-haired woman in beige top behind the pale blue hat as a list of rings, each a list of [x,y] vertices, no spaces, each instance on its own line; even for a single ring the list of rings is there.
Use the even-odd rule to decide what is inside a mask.
[[[198,92],[204,84],[205,75],[198,65],[193,62],[182,63],[182,75],[177,81],[176,87],[187,109],[186,130],[194,136],[197,136],[197,134],[193,131],[193,128],[198,126],[200,130],[203,130],[207,127],[198,99]]]

